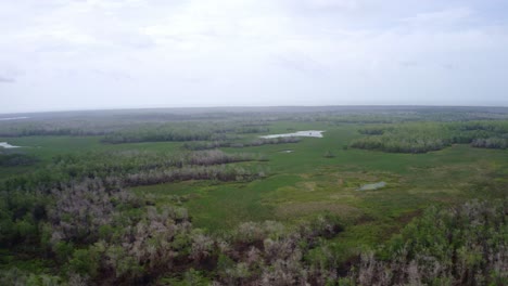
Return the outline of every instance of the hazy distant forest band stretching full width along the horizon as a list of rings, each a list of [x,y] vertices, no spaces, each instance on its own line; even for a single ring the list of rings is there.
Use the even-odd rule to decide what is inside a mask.
[[[173,112],[173,113],[172,113]],[[507,108],[426,106],[274,107],[212,112],[103,110],[34,114],[0,121],[0,136],[101,135],[109,143],[214,140],[213,134],[266,133],[274,121],[329,123],[467,122],[508,119]],[[143,132],[145,131],[145,132]],[[169,134],[167,134],[169,133]],[[213,133],[213,134],[212,134]],[[219,140],[220,135],[215,140]]]

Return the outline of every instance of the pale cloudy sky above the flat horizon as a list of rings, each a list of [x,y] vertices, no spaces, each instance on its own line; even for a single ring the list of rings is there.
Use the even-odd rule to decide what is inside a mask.
[[[506,0],[0,0],[0,113],[507,91]]]

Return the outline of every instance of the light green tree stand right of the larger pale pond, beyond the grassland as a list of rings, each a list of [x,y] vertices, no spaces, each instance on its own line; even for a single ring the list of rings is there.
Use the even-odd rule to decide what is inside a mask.
[[[392,153],[426,153],[452,144],[506,148],[508,121],[411,122],[367,127],[352,147]]]

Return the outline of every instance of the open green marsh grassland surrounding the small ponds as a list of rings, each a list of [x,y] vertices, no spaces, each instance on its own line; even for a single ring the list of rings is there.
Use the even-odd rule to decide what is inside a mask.
[[[388,154],[345,148],[359,136],[356,125],[278,122],[272,132],[327,130],[322,139],[299,144],[242,148],[263,154],[270,177],[246,183],[180,182],[135,187],[158,204],[185,197],[193,222],[213,232],[243,221],[299,221],[325,211],[346,218],[351,227],[342,239],[372,245],[386,239],[419,210],[432,204],[454,204],[497,197],[504,191],[477,192],[506,183],[508,152],[453,145],[426,154]],[[281,151],[292,150],[293,153]],[[238,152],[225,148],[225,152]],[[325,152],[335,156],[326,158]],[[386,187],[359,192],[365,183],[384,181]],[[351,234],[350,234],[351,232]],[[344,242],[352,244],[352,242]]]

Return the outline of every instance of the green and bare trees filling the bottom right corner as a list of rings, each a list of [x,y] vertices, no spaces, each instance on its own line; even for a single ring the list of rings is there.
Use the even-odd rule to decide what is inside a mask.
[[[344,285],[507,285],[508,200],[431,207],[366,252]]]

